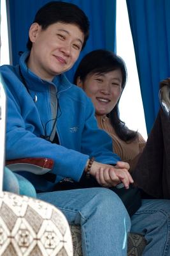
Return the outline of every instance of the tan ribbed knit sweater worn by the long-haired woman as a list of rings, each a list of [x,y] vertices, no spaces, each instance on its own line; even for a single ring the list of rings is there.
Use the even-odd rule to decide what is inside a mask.
[[[96,118],[99,128],[103,129],[111,136],[113,141],[113,152],[120,156],[122,161],[130,164],[131,171],[134,170],[139,156],[146,145],[144,138],[138,133],[136,140],[125,142],[118,138],[115,129],[110,123],[110,118],[98,115],[96,115]]]

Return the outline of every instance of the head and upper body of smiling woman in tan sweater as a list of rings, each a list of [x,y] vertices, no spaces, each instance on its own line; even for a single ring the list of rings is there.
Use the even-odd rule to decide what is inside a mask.
[[[118,102],[125,88],[125,63],[113,52],[96,50],[87,54],[74,75],[74,83],[92,99],[101,129],[113,140],[113,150],[134,170],[145,140],[139,132],[131,131],[119,118]]]

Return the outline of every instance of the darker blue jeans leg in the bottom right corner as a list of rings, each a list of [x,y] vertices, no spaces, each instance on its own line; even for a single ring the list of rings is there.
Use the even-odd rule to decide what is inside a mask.
[[[147,241],[143,256],[170,255],[170,200],[143,200],[131,225],[131,232]]]

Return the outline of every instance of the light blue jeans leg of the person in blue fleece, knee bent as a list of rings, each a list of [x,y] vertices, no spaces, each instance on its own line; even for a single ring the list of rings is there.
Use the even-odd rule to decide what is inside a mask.
[[[37,197],[57,206],[69,224],[81,226],[83,255],[127,255],[131,221],[118,196],[106,188],[39,193]]]

